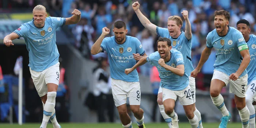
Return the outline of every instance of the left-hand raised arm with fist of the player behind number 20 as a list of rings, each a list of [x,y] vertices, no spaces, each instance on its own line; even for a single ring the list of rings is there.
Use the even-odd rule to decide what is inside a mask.
[[[136,13],[136,15],[138,16],[138,18],[139,18],[140,22],[142,23],[142,25],[143,25],[144,27],[146,27],[148,30],[150,30],[150,31],[152,31],[153,33],[157,34],[157,32],[156,32],[157,26],[154,25],[153,23],[151,23],[151,22],[146,18],[146,16],[144,16],[144,15],[142,14],[142,12],[140,11],[139,7],[140,7],[140,4],[139,4],[138,1],[137,1],[137,2],[134,2],[134,3],[132,4],[132,9],[135,11],[135,13]]]

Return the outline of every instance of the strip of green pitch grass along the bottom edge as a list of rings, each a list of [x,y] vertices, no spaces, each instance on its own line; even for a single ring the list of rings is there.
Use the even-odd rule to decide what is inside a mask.
[[[61,128],[123,128],[121,124],[118,123],[60,123]],[[25,123],[23,125],[18,124],[6,124],[0,123],[0,128],[39,128],[41,124],[30,124]],[[133,128],[138,128],[136,124],[132,124]],[[146,123],[146,128],[168,128],[166,123]],[[189,123],[179,123],[180,128],[191,128]],[[219,123],[203,123],[204,128],[218,128]],[[227,128],[241,128],[241,123],[228,123]],[[48,123],[47,128],[53,128],[51,123]]]

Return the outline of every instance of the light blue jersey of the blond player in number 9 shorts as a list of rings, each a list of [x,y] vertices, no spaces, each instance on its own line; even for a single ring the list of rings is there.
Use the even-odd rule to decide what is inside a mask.
[[[66,23],[66,18],[47,17],[43,28],[34,25],[34,19],[22,24],[14,33],[25,39],[29,51],[29,67],[33,71],[44,71],[59,62],[56,45],[56,29]]]

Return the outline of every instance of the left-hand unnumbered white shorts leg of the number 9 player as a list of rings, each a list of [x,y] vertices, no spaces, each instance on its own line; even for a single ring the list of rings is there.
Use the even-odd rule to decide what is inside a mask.
[[[45,96],[48,92],[45,79],[44,79],[44,72],[43,71],[36,72],[31,70],[30,68],[30,74],[31,74],[31,78],[33,79],[33,83],[35,85],[35,89],[37,90],[39,97],[43,98],[43,96]],[[42,101],[44,100],[42,99]]]

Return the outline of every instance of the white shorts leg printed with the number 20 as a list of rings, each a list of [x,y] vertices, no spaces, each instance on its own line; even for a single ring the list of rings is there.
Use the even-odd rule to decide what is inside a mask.
[[[189,85],[183,90],[174,91],[174,93],[178,96],[181,105],[192,105],[194,103]]]

